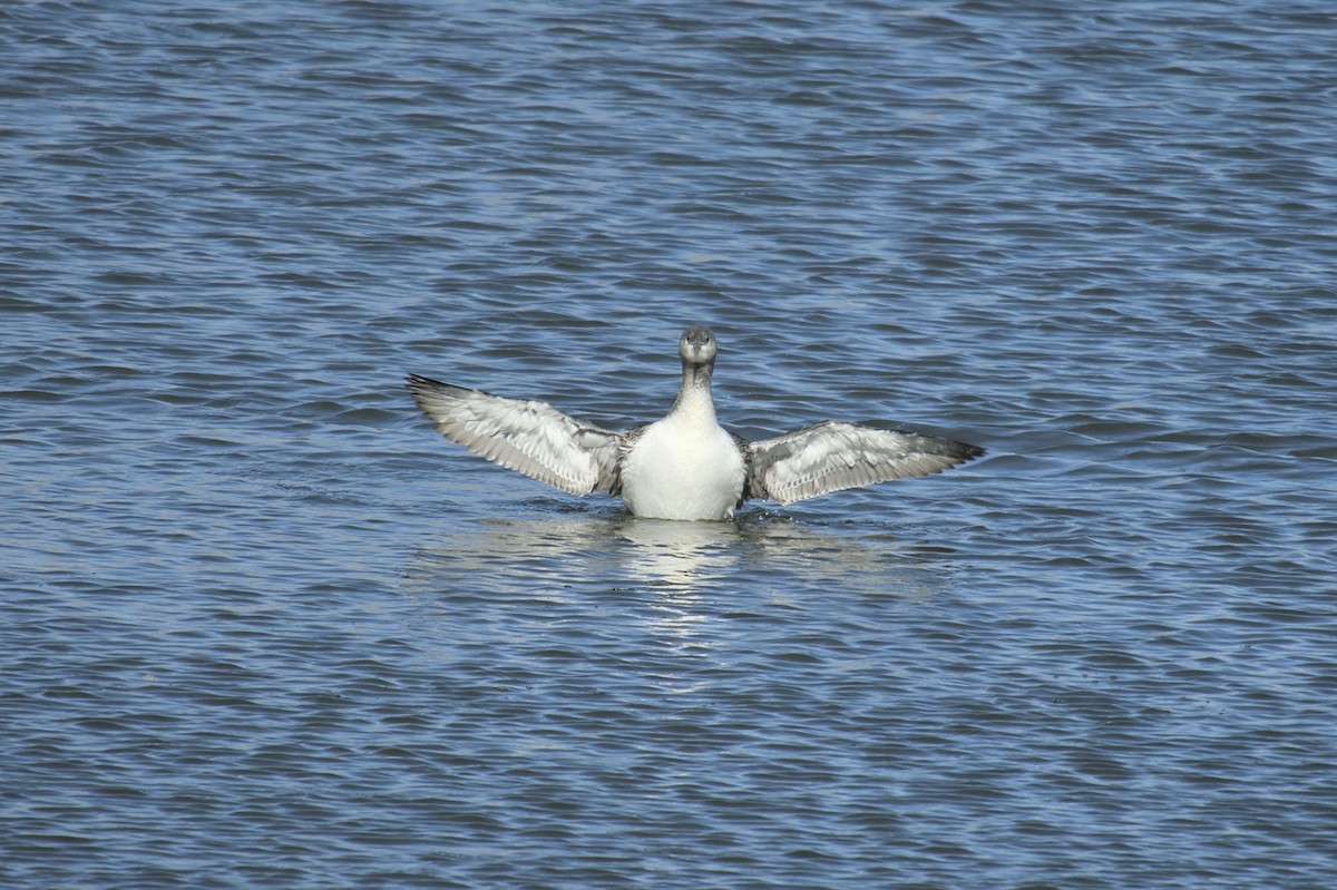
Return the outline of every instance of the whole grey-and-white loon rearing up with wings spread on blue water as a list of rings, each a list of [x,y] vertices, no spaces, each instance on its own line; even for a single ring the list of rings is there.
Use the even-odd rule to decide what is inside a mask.
[[[793,504],[845,488],[929,476],[983,448],[909,430],[825,421],[750,442],[715,420],[715,335],[693,325],[678,341],[682,389],[673,410],[624,432],[552,405],[409,374],[406,386],[448,440],[571,494],[622,496],[632,516],[727,520],[749,498]]]

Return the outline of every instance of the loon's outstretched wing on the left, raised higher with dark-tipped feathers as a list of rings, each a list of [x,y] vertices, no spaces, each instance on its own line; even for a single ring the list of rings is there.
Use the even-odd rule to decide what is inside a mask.
[[[567,417],[547,402],[492,396],[408,376],[428,420],[452,442],[572,494],[612,485],[618,433]]]

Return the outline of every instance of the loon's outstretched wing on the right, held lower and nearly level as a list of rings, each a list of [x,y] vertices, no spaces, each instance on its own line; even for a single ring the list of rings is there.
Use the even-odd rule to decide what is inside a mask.
[[[792,504],[842,488],[940,473],[983,448],[904,430],[826,421],[749,445],[747,497]]]

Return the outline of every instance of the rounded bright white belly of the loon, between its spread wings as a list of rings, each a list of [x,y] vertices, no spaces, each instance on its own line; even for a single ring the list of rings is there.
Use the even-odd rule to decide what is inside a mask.
[[[729,433],[711,421],[651,424],[622,466],[622,500],[635,516],[725,520],[743,492],[746,468]]]

